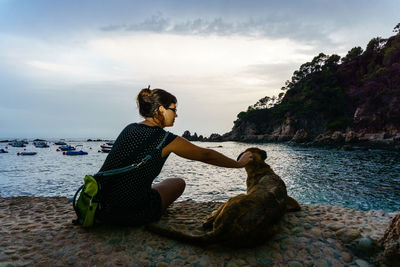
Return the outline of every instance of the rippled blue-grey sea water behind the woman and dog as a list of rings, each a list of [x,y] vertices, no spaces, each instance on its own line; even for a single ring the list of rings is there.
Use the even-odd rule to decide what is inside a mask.
[[[101,167],[107,154],[98,153],[102,142],[81,144],[86,156],[64,156],[57,146],[35,148],[35,156],[17,156],[24,148],[9,146],[0,153],[0,195],[72,197],[85,174]],[[197,143],[232,158],[252,145],[223,142]],[[4,148],[6,144],[0,144]],[[218,147],[222,146],[222,147]],[[330,204],[360,210],[400,211],[400,153],[340,151],[289,144],[258,144],[267,151],[267,163],[285,181],[289,195],[304,204]],[[90,149],[92,148],[92,149]],[[171,155],[156,181],[182,177],[186,190],[181,197],[195,201],[225,201],[245,192],[244,169],[227,169]]]

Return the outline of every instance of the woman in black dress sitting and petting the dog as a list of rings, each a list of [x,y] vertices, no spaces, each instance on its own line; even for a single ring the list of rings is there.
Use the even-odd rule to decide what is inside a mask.
[[[139,113],[145,118],[128,125],[118,136],[100,171],[138,164],[162,143],[165,127],[174,125],[177,115],[175,96],[162,89],[142,89],[137,96]],[[169,133],[150,160],[135,170],[100,179],[103,186],[101,208],[96,216],[113,223],[141,225],[160,219],[162,212],[185,189],[181,178],[168,178],[153,184],[170,153],[208,164],[242,168],[252,160],[245,153],[236,161],[221,153],[198,147]]]

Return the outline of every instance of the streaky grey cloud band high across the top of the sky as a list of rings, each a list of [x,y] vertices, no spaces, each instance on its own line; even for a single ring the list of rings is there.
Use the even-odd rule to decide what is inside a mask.
[[[296,18],[281,20],[276,17],[257,17],[230,21],[229,18],[194,18],[172,20],[162,13],[152,15],[139,23],[111,24],[100,28],[112,32],[152,32],[194,36],[245,36],[252,38],[290,38],[307,42],[332,43],[328,33],[332,27],[316,25]]]

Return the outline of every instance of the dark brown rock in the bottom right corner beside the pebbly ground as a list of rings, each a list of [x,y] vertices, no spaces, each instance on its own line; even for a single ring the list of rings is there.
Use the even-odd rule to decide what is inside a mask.
[[[379,244],[384,249],[381,260],[388,266],[396,266],[400,262],[400,213],[390,221]]]

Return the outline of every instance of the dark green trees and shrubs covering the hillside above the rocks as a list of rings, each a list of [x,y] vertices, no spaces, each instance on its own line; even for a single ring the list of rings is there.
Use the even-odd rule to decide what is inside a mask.
[[[400,23],[394,32],[388,39],[373,38],[365,51],[352,48],[343,58],[320,53],[293,73],[278,97],[265,96],[240,112],[235,126],[253,122],[266,133],[287,118],[303,129],[323,121],[328,131],[398,124]],[[357,109],[359,121],[354,120]]]

